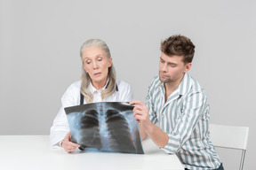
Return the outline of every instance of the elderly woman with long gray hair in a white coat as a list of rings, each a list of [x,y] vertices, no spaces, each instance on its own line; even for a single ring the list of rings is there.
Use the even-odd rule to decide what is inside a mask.
[[[65,151],[75,151],[80,147],[70,141],[68,119],[65,107],[96,102],[130,102],[131,86],[116,80],[116,72],[108,45],[99,39],[83,43],[80,49],[83,74],[80,81],[71,84],[61,98],[60,112],[51,128],[51,144],[63,147]]]

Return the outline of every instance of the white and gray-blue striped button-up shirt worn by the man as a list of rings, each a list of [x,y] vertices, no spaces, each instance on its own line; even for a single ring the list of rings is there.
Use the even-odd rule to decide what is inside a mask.
[[[210,105],[204,89],[188,73],[164,102],[164,83],[156,76],[148,88],[149,118],[168,136],[162,148],[176,153],[188,169],[216,169],[220,158],[209,140]]]

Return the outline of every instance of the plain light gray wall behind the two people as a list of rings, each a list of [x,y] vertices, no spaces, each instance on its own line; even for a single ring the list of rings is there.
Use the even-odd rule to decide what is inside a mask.
[[[253,169],[255,7],[249,0],[0,0],[0,135],[49,134],[60,97],[80,77],[87,39],[108,43],[118,78],[145,101],[161,40],[181,34],[196,44],[190,74],[209,97],[211,122],[250,127],[244,169]],[[218,152],[226,169],[237,169],[240,151]]]

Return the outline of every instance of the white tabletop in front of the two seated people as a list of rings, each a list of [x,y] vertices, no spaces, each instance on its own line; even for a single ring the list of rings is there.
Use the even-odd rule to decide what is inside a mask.
[[[2,170],[184,170],[176,155],[166,154],[151,141],[143,141],[145,154],[84,152],[67,153],[50,147],[49,135],[0,135]]]

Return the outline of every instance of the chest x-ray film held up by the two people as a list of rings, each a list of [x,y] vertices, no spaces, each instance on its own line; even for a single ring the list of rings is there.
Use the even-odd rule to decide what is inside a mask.
[[[71,141],[81,150],[143,154],[134,106],[100,102],[66,107]]]

